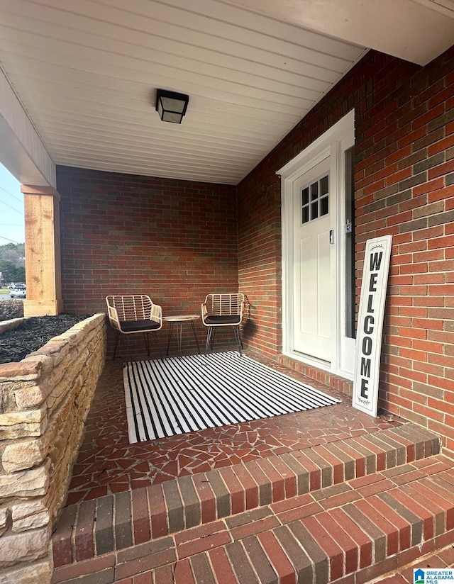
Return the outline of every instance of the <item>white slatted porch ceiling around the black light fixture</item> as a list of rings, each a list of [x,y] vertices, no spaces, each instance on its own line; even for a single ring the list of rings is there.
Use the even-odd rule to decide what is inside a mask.
[[[223,184],[369,47],[453,44],[454,0],[0,0],[1,69],[55,164]],[[157,88],[189,94],[181,125]]]

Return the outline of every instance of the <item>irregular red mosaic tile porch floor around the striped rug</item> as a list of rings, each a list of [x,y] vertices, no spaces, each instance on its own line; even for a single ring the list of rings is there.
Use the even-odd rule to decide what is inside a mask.
[[[72,471],[67,504],[239,462],[260,461],[268,456],[367,435],[402,423],[399,418],[388,416],[371,418],[351,407],[351,399],[341,391],[274,361],[255,354],[251,356],[343,400],[343,403],[129,444],[121,362],[107,361]]]

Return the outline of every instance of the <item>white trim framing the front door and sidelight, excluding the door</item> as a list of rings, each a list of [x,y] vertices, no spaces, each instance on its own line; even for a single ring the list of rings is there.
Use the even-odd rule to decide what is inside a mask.
[[[281,176],[282,201],[282,352],[299,361],[326,371],[353,378],[355,340],[345,337],[345,257],[343,225],[345,225],[345,164],[344,153],[355,142],[355,113],[350,111],[323,135],[290,160],[276,174]],[[330,176],[335,205],[330,212],[334,230],[336,253],[331,259],[331,314],[333,316],[331,364],[294,352],[292,286],[289,286],[289,270],[293,264],[292,196],[293,182],[315,164],[330,157]],[[353,354],[351,360],[349,355]],[[350,371],[351,369],[351,371]]]

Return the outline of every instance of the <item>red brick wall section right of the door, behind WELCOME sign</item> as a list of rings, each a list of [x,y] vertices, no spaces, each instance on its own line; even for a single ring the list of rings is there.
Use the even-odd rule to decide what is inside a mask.
[[[380,405],[454,450],[454,50],[423,69],[375,60],[355,186],[358,265],[393,235]]]

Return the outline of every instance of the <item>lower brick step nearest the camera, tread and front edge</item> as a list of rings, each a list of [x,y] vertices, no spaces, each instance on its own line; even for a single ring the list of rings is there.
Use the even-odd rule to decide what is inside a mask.
[[[118,584],[362,584],[453,541],[454,461],[438,454],[56,568],[52,584],[103,570]]]

